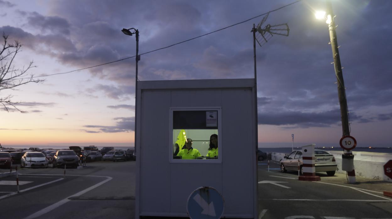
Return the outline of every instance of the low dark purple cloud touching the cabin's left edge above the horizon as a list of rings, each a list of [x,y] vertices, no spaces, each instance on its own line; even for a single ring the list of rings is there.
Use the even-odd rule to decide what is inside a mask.
[[[85,125],[86,128],[98,128],[100,132],[130,132],[134,130],[135,118],[134,117],[118,117],[114,118],[116,124],[112,126],[107,125]],[[86,130],[89,133],[98,133],[98,131]]]

